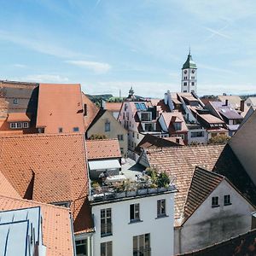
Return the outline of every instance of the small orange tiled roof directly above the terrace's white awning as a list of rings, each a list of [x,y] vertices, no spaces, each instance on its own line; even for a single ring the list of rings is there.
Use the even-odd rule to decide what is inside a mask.
[[[88,160],[121,157],[117,139],[87,140],[86,149]]]

